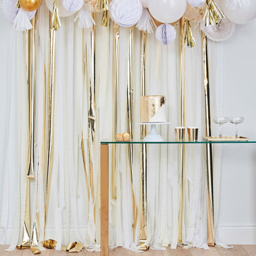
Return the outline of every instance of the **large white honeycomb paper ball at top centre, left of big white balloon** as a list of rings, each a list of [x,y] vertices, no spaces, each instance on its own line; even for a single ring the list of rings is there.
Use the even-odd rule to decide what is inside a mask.
[[[135,25],[142,15],[140,0],[113,0],[109,6],[112,20],[119,26]]]

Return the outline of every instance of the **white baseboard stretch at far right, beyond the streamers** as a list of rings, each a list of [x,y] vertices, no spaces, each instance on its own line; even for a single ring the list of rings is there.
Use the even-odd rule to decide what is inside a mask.
[[[218,225],[216,237],[224,244],[256,244],[256,225]]]

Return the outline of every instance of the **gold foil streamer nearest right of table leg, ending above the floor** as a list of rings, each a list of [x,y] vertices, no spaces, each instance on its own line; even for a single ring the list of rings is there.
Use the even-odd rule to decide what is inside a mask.
[[[113,23],[113,124],[112,140],[116,137],[118,119],[118,89],[119,89],[119,26]],[[111,172],[111,198],[116,199],[115,191],[116,173],[116,144],[112,145],[112,172]]]

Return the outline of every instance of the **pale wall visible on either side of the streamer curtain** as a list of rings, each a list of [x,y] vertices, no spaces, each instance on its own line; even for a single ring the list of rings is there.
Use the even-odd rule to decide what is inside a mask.
[[[5,49],[10,43],[10,27],[0,10],[1,89],[6,84]],[[250,140],[256,139],[255,42],[256,20],[236,26],[233,37],[224,42],[223,113],[244,116],[239,134]],[[0,114],[6,111],[5,100],[4,94],[0,94]],[[1,124],[1,134],[4,130]],[[223,135],[230,134],[234,134],[234,126],[225,124]],[[3,139],[1,136],[1,145]],[[256,244],[256,144],[223,145],[222,156],[219,238],[228,244]]]

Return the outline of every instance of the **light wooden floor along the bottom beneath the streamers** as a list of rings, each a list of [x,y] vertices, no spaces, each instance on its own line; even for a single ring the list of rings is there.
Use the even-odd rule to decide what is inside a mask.
[[[8,246],[0,246],[1,256],[32,256],[34,255],[30,249],[17,250],[13,252],[6,252]],[[40,255],[40,254],[38,254]],[[41,255],[47,256],[58,256],[58,255],[70,255],[70,256],[100,256],[100,252],[88,252],[87,250],[82,250],[78,253],[68,253],[63,251],[55,251],[54,249],[44,250]],[[203,250],[198,248],[183,249],[182,247],[177,247],[177,249],[172,250],[170,247],[167,250],[148,250],[147,252],[135,253],[131,250],[118,247],[110,250],[110,256],[256,256],[256,245],[255,246],[234,246],[232,249],[224,249],[222,247],[210,247],[209,250]]]

